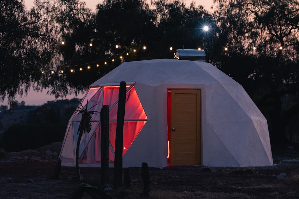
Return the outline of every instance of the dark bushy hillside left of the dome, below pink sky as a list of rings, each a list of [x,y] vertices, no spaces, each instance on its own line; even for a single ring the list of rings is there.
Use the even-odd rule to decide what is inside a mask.
[[[0,148],[17,152],[61,142],[80,99],[48,101],[0,112]]]

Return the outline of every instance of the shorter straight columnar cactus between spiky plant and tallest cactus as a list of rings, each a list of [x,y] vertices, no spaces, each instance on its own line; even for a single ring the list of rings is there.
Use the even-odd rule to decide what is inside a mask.
[[[108,182],[109,169],[109,106],[101,108],[101,183]]]

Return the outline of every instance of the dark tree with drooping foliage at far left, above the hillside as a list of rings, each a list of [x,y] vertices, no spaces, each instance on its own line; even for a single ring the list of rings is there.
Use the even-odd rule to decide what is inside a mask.
[[[35,1],[30,11],[23,1],[0,0],[0,6],[0,99],[10,103],[35,83],[40,86],[42,71],[52,68],[56,42],[48,1]]]

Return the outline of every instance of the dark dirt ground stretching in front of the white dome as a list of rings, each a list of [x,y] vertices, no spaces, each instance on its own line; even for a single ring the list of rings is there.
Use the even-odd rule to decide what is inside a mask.
[[[20,158],[19,158],[20,159]],[[297,151],[273,155],[273,166],[250,168],[206,168],[176,166],[150,170],[150,198],[299,198]],[[280,163],[281,162],[281,163]],[[69,198],[79,183],[75,169],[62,167],[54,180],[53,160],[0,161],[0,198]],[[285,178],[277,179],[284,172]],[[124,172],[123,172],[124,173]],[[81,168],[84,182],[97,186],[100,168]],[[131,190],[107,191],[111,198],[142,198],[140,168],[130,168]],[[109,169],[110,183],[113,168]],[[111,185],[112,186],[112,185]],[[91,198],[84,194],[83,198]]]

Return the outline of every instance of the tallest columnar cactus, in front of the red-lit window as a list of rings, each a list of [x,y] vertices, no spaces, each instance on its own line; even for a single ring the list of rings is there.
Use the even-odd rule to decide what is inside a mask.
[[[118,92],[118,109],[115,135],[115,157],[114,157],[114,189],[121,187],[121,169],[123,167],[123,121],[126,106],[126,82],[122,81]]]

